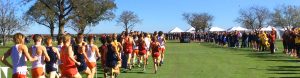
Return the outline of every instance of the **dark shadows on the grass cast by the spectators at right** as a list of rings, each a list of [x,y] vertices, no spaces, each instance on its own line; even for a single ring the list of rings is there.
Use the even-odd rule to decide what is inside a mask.
[[[209,48],[220,48],[223,50],[229,50],[229,52],[232,51],[238,51],[234,54],[241,55],[245,57],[251,57],[251,58],[259,58],[260,61],[274,61],[274,62],[293,62],[297,63],[300,62],[299,59],[294,59],[292,57],[289,57],[285,54],[282,54],[281,52],[276,52],[275,54],[271,54],[269,51],[264,52],[254,52],[251,48],[228,48],[223,46],[218,46],[216,44],[206,43],[202,44],[203,46],[207,46]],[[228,52],[228,51],[227,51]],[[279,77],[269,77],[269,78],[300,78],[300,77],[293,77],[290,75],[298,75],[300,74],[300,65],[299,66],[269,66],[267,69],[257,69],[257,68],[248,68],[248,69],[254,69],[254,70],[267,70],[268,72],[266,74],[277,74],[280,75]]]

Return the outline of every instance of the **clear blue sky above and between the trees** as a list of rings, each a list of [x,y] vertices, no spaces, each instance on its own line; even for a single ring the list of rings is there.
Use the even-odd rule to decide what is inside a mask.
[[[118,7],[114,11],[116,16],[125,10],[135,12],[142,22],[137,24],[134,30],[146,32],[155,30],[168,32],[174,27],[187,30],[190,26],[182,17],[182,13],[185,12],[207,12],[214,16],[213,26],[229,28],[239,25],[235,19],[239,16],[238,11],[241,8],[263,6],[273,11],[273,8],[280,5],[300,6],[300,0],[115,0],[115,2]],[[101,21],[96,27],[88,28],[86,33],[119,33],[123,28],[116,24],[115,19]],[[55,30],[57,31],[58,29]],[[75,33],[69,28],[66,28],[66,31]],[[49,34],[49,29],[32,24],[26,33]]]

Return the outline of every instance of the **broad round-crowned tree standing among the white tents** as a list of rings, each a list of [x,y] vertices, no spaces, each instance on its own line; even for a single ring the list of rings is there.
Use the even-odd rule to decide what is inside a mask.
[[[196,32],[200,30],[205,31],[206,28],[210,28],[214,18],[208,13],[183,13],[182,16],[188,24],[195,28]]]

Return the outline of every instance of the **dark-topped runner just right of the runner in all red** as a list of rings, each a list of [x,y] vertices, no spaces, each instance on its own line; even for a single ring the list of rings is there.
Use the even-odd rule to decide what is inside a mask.
[[[76,45],[73,46],[74,55],[76,56],[76,60],[80,62],[80,65],[77,66],[78,72],[84,73],[88,78],[92,78],[91,70],[87,67],[86,61],[88,60],[86,54],[86,43],[83,41],[84,35],[82,33],[78,33],[76,37]]]

